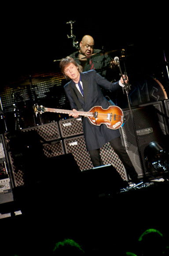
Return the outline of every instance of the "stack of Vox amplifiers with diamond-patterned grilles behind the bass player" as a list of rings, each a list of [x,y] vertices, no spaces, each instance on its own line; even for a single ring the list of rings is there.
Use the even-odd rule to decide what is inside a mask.
[[[72,154],[81,171],[93,168],[84,142],[81,118],[68,118],[59,122],[24,128],[13,133],[10,132],[5,137],[15,187],[27,184],[31,179],[38,181],[35,176],[41,175],[41,173],[35,175],[35,169],[45,158],[65,155],[64,161],[66,162],[67,159],[68,161],[70,159],[66,156]],[[121,177],[124,180],[127,179],[125,168],[118,155],[110,149],[109,143],[101,149],[101,155],[105,165],[112,164]],[[65,164],[64,161],[62,168]],[[56,163],[56,165],[60,166],[60,163]]]

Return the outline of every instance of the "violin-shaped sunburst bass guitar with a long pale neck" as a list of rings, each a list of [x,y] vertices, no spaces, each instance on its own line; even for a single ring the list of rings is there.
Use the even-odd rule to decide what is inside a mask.
[[[66,109],[51,109],[43,106],[33,106],[35,113],[53,112],[69,114],[72,110]],[[101,106],[95,106],[88,112],[77,111],[79,116],[87,117],[91,124],[100,126],[105,124],[107,128],[116,130],[123,124],[123,111],[118,106],[109,106],[108,109],[103,109]]]

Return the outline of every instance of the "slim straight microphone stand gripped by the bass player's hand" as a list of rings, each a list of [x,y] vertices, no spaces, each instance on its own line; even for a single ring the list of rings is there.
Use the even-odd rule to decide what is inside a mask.
[[[146,174],[145,174],[145,169],[144,169],[144,165],[143,165],[143,159],[142,159],[142,156],[141,156],[139,141],[138,141],[138,138],[137,138],[136,126],[135,126],[135,123],[134,123],[132,109],[131,109],[131,105],[130,105],[130,101],[129,101],[129,90],[131,89],[131,85],[129,84],[129,81],[127,79],[126,71],[125,71],[125,78],[124,78],[123,74],[121,72],[120,63],[119,63],[119,61],[117,61],[117,62],[118,62],[118,68],[120,70],[120,75],[121,75],[121,77],[123,79],[123,82],[124,82],[123,93],[124,93],[124,90],[125,90],[126,95],[127,95],[127,101],[128,101],[128,105],[129,105],[130,115],[131,115],[131,118],[132,118],[132,124],[133,124],[133,128],[134,128],[134,132],[135,132],[135,137],[136,137],[137,147],[138,147],[138,151],[139,151],[140,162],[141,162],[141,166],[142,166],[142,169],[143,169],[143,180],[146,181]],[[127,80],[127,83],[125,82],[125,80]]]

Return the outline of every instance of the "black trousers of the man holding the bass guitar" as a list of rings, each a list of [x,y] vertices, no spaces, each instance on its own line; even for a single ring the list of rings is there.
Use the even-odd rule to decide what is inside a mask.
[[[127,154],[125,148],[121,143],[120,137],[112,139],[110,142],[110,146],[114,149],[115,153],[118,154],[121,162],[125,166],[127,174],[130,176],[131,179],[137,178],[138,174],[132,165],[132,162]],[[100,149],[89,151],[90,158],[92,160],[92,164],[94,167],[103,166],[103,161],[100,157]]]

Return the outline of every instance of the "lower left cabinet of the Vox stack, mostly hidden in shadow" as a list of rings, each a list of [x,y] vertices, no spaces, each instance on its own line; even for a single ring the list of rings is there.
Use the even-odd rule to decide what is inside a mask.
[[[45,158],[53,158],[65,153],[61,140],[42,144],[39,148],[33,146],[30,152],[29,148],[22,147],[8,152],[15,187],[40,181],[44,175],[47,173],[49,175],[51,166],[46,166],[44,169]]]

